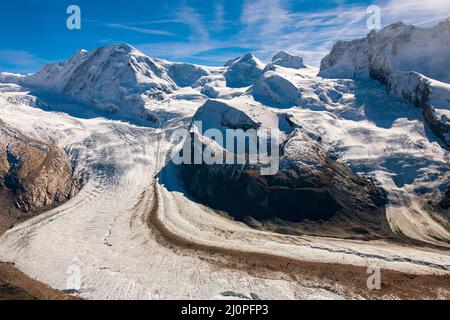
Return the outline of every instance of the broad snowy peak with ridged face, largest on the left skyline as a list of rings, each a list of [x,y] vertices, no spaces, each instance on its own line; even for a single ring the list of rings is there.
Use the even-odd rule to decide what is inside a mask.
[[[129,45],[79,51],[68,61],[44,67],[26,84],[138,117],[144,116],[149,99],[161,98],[176,88],[162,66]]]

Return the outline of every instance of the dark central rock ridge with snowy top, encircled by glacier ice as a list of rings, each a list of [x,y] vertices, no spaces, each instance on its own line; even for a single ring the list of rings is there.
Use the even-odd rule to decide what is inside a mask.
[[[280,144],[270,147],[272,151],[274,147],[279,149],[279,170],[273,175],[263,175],[261,169],[265,165],[250,161],[194,164],[192,155],[199,144],[193,141],[202,141],[203,150],[214,145],[194,121],[191,139],[185,142],[190,143],[191,161],[180,165],[180,171],[187,191],[198,201],[238,220],[273,223],[278,229],[282,225],[284,230],[293,232],[355,237],[389,233],[385,191],[338,163],[320,136],[296,124],[288,114],[209,100],[197,111],[194,120],[202,121],[203,130],[245,131],[278,125],[284,132],[278,136]],[[222,152],[219,149],[214,150]],[[223,151],[227,159],[242,154],[228,147]],[[250,149],[244,153],[250,155]]]

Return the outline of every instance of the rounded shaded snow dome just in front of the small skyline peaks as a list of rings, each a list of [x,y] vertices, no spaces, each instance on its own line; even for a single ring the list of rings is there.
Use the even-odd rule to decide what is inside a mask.
[[[255,100],[274,107],[292,107],[300,97],[299,88],[280,73],[267,71],[252,87]]]

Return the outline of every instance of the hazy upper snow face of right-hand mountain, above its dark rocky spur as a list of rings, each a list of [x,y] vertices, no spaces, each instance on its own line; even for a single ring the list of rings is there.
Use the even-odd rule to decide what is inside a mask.
[[[369,78],[393,71],[416,71],[450,82],[450,18],[429,29],[401,22],[372,31],[366,38],[339,41],[321,63],[320,75]]]

